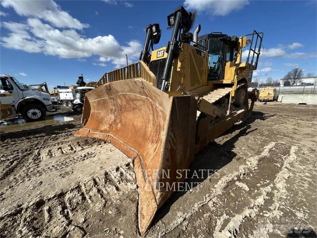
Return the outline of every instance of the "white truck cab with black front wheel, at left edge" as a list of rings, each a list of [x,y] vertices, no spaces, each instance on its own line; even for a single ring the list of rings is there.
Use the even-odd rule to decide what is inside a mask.
[[[41,91],[28,90],[14,77],[0,75],[0,101],[11,104],[13,115],[21,115],[27,122],[44,120],[46,111],[54,109],[51,96]]]

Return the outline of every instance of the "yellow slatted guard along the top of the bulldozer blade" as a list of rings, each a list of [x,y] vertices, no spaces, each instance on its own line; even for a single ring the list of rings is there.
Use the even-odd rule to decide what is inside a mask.
[[[132,63],[128,66],[106,72],[96,83],[95,88],[115,81],[141,78],[156,87],[156,77],[143,61]]]

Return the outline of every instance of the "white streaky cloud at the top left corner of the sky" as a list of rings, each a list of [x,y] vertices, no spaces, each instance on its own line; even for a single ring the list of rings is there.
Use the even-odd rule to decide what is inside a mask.
[[[68,12],[62,11],[61,7],[52,0],[47,1],[1,1],[5,8],[12,7],[16,13],[25,17],[37,17],[52,23],[60,28],[83,29],[89,27],[69,15]]]

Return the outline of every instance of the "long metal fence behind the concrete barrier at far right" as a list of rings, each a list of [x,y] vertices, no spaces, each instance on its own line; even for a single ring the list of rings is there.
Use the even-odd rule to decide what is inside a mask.
[[[276,86],[276,87],[260,87],[259,90],[265,88],[275,88],[277,94],[317,94],[316,85],[297,85],[297,86]]]

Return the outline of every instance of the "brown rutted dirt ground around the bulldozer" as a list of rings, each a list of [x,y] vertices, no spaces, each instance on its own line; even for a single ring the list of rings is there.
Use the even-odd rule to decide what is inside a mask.
[[[190,174],[186,182],[201,183],[175,192],[145,236],[304,237],[296,226],[316,237],[316,113],[256,102],[190,166],[217,172]],[[74,136],[81,115],[68,116],[1,133],[0,236],[139,237],[133,162],[105,141]]]

